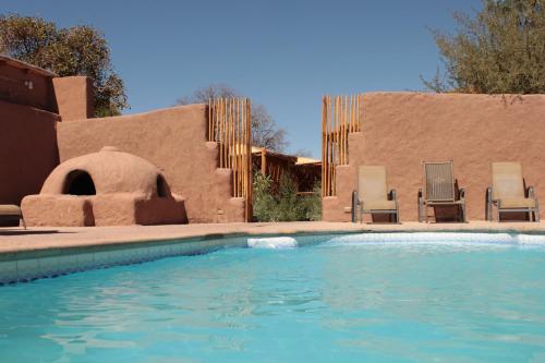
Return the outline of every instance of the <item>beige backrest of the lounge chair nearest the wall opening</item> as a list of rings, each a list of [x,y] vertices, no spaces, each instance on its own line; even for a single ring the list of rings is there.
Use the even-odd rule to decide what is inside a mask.
[[[358,198],[363,201],[388,199],[386,167],[361,166],[358,176]]]

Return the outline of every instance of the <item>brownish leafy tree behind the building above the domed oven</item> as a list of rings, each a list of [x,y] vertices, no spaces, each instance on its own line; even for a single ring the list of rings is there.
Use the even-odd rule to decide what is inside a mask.
[[[86,75],[95,85],[95,116],[116,116],[128,107],[123,81],[113,71],[101,33],[82,25],[60,28],[41,17],[1,15],[0,52],[60,76]]]

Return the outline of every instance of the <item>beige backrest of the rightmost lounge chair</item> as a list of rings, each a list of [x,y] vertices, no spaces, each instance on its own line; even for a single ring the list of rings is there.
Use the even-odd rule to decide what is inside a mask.
[[[524,180],[520,162],[492,164],[492,198],[523,198]]]

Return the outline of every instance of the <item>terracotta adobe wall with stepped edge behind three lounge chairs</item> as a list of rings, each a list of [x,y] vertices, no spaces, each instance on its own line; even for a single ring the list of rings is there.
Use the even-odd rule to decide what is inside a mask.
[[[387,167],[401,220],[417,220],[423,160],[455,161],[469,219],[485,218],[493,161],[521,161],[526,184],[545,205],[545,95],[365,94],[363,132],[349,143],[350,165],[337,168],[337,196],[324,199],[325,220],[350,220],[359,165]]]

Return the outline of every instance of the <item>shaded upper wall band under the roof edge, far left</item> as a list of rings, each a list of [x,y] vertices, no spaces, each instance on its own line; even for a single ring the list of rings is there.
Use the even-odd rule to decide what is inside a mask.
[[[57,112],[51,77],[10,66],[1,61],[0,100]]]

